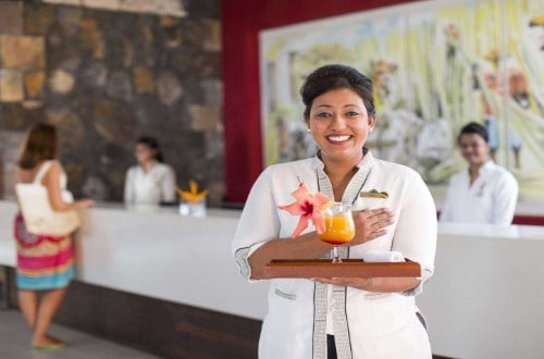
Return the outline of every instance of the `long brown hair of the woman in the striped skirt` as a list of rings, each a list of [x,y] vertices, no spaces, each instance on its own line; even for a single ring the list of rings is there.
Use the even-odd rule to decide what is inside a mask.
[[[34,169],[39,162],[53,160],[58,156],[57,127],[40,122],[26,132],[17,164],[25,170]]]

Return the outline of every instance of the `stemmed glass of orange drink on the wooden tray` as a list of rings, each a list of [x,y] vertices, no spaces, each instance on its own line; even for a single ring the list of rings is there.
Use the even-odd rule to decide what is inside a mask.
[[[338,256],[338,246],[342,246],[355,236],[355,223],[351,215],[351,205],[334,202],[323,211],[325,231],[318,234],[319,238],[333,245],[333,263],[342,262]]]

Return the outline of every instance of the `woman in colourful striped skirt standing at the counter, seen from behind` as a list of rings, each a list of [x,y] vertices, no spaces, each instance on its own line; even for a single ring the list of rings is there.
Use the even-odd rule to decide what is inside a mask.
[[[26,133],[17,161],[16,183],[41,183],[54,211],[81,210],[95,205],[90,199],[65,202],[62,190],[66,174],[57,160],[57,129],[38,123]],[[15,216],[17,243],[16,282],[21,311],[34,331],[34,351],[59,349],[65,344],[48,330],[75,275],[72,238],[28,233],[21,213]],[[38,295],[40,293],[40,295]]]

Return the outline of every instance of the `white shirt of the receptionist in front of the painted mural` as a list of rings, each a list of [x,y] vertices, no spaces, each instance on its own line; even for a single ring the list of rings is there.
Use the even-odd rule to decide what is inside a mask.
[[[511,224],[518,200],[518,183],[506,169],[487,161],[470,185],[469,170],[449,181],[441,222]]]

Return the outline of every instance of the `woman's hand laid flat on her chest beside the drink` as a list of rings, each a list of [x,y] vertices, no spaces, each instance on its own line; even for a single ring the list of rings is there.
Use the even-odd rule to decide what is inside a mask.
[[[362,210],[354,213],[355,237],[348,246],[357,246],[387,233],[386,226],[393,224],[393,212],[387,208]]]

